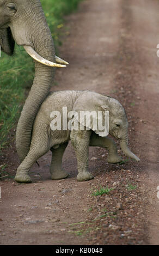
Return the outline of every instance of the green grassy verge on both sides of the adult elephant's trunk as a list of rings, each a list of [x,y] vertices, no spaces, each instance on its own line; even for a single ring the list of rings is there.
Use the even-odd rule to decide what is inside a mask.
[[[42,8],[50,27],[56,49],[60,28],[64,26],[64,15],[74,11],[81,0],[41,0]],[[0,154],[10,142],[9,132],[15,127],[21,106],[25,101],[25,90],[32,85],[34,64],[22,47],[15,46],[13,57],[2,53],[0,58]]]

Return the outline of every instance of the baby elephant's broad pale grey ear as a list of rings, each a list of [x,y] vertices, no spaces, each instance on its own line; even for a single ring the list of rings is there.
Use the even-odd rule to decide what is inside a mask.
[[[101,137],[109,133],[109,99],[95,92],[82,92],[74,103],[74,118],[87,130],[93,130]]]

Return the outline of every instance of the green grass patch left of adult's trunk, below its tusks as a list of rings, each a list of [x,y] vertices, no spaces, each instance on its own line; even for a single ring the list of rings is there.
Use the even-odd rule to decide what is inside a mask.
[[[33,63],[21,48],[16,46],[14,56],[8,57],[2,53],[0,58],[1,87],[0,87],[0,151],[10,142],[9,131],[15,127],[25,99],[25,88],[33,80]]]

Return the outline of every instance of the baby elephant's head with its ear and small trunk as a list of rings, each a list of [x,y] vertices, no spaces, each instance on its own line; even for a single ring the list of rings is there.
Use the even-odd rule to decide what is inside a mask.
[[[119,103],[119,101],[113,99],[112,97],[97,94],[94,92],[83,92],[74,104],[74,111],[78,113],[81,111],[89,111],[89,112],[109,112],[109,131],[108,133],[115,137],[116,139],[120,139],[120,147],[123,153],[127,157],[131,157],[132,159],[139,161],[139,158],[134,155],[129,147],[128,147],[128,121],[126,117],[126,112],[124,107]],[[103,119],[105,115],[102,115]],[[76,118],[76,115],[75,115]],[[78,119],[79,123],[83,124],[83,119]],[[93,119],[91,119],[93,121]],[[103,120],[105,123],[105,120]],[[88,128],[93,129],[93,125],[90,124]],[[100,136],[102,135],[99,130],[94,130]]]

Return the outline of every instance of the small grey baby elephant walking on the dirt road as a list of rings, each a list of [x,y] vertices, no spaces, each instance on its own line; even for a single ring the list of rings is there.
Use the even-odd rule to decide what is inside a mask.
[[[28,175],[30,168],[40,156],[46,154],[50,149],[52,151],[50,166],[51,178],[66,178],[68,173],[62,169],[62,157],[70,139],[77,156],[78,181],[93,178],[93,175],[88,172],[89,146],[99,146],[108,149],[109,156],[107,161],[109,163],[118,163],[121,161],[114,141],[111,138],[97,135],[97,131],[51,130],[51,112],[59,111],[62,113],[63,107],[67,107],[68,112],[76,111],[77,113],[79,111],[109,111],[109,133],[115,138],[120,139],[121,149],[126,156],[139,161],[138,157],[131,153],[128,148],[126,113],[123,106],[117,100],[89,91],[52,92],[42,103],[36,115],[30,150],[25,160],[23,160],[17,169],[15,176],[17,182],[31,182]],[[72,118],[77,122],[75,116]]]

